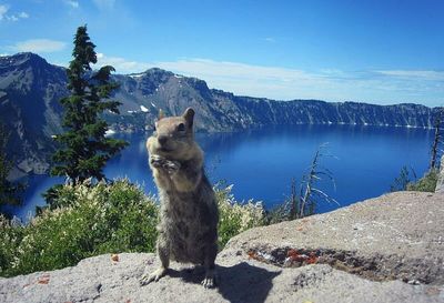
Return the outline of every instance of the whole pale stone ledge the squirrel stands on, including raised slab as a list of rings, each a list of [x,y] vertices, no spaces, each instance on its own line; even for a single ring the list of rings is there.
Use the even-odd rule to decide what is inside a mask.
[[[220,283],[172,264],[140,286],[153,254],[0,279],[0,302],[444,302],[444,194],[398,192],[250,230],[218,255]]]

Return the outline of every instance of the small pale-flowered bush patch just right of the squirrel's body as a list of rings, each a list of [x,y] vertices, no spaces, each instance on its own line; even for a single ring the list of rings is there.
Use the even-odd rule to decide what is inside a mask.
[[[219,248],[222,250],[231,238],[252,228],[265,224],[261,202],[249,200],[239,203],[231,193],[232,185],[216,188],[215,196],[219,208]]]

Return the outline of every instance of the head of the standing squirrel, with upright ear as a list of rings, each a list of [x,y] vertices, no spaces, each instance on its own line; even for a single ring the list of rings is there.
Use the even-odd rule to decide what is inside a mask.
[[[174,159],[185,158],[190,145],[194,143],[193,120],[194,110],[191,108],[179,117],[164,118],[160,112],[151,140],[152,152]]]

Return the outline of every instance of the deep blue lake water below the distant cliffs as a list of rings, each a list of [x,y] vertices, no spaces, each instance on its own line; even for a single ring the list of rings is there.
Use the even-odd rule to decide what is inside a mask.
[[[234,184],[236,200],[261,200],[272,208],[290,194],[291,179],[301,180],[317,148],[329,142],[325,152],[335,158],[323,158],[335,179],[320,188],[341,206],[379,196],[390,185],[403,165],[411,166],[418,176],[427,169],[433,132],[423,129],[297,125],[239,133],[196,134],[205,152],[210,180]],[[130,142],[121,155],[112,159],[104,173],[109,179],[129,178],[141,184],[147,193],[157,193],[145,150],[145,135],[120,135]],[[32,176],[24,196],[24,205],[12,212],[26,219],[36,205],[44,205],[41,193],[62,179]],[[321,203],[317,212],[337,208]]]

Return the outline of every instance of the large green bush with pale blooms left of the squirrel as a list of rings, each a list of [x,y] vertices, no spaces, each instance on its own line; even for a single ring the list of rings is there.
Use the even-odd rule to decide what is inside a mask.
[[[154,251],[158,205],[138,186],[122,180],[58,191],[60,206],[28,225],[0,218],[0,275],[61,269],[103,253]]]

